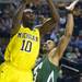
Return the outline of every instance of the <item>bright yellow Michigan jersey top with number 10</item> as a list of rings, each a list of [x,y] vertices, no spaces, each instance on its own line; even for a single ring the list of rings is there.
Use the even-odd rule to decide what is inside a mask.
[[[21,26],[7,47],[4,59],[19,69],[30,70],[34,67],[38,52],[38,30],[31,31],[28,27]]]

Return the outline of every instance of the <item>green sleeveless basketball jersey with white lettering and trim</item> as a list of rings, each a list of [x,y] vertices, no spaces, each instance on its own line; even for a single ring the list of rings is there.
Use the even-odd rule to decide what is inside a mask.
[[[59,68],[52,65],[47,57],[36,68],[39,70],[36,73],[35,82],[57,82]]]

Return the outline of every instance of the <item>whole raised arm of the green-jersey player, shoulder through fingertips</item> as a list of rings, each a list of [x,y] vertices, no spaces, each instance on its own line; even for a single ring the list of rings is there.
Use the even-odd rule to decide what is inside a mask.
[[[67,21],[67,25],[66,25],[66,31],[65,31],[65,35],[61,37],[58,47],[55,50],[51,50],[50,54],[52,55],[52,60],[55,61],[55,65],[59,65],[59,60],[61,59],[63,51],[66,50],[69,40],[72,36],[72,32],[73,32],[73,14],[71,11],[73,11],[75,4],[77,4],[78,0],[73,1],[69,7],[67,7],[67,10],[69,11],[68,13],[68,21]]]

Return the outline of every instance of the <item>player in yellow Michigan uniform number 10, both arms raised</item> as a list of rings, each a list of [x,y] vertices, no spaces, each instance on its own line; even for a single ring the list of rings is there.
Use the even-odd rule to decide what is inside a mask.
[[[35,16],[31,9],[23,11],[25,2],[17,10],[16,15],[13,17],[13,28],[16,28],[16,32],[13,33],[15,35],[5,49],[5,61],[0,66],[0,82],[33,82],[32,69],[39,52],[39,38],[51,31],[59,21],[52,0],[47,0],[47,2],[52,19],[47,20],[40,27],[33,28]],[[22,24],[20,25],[19,20],[21,16]]]

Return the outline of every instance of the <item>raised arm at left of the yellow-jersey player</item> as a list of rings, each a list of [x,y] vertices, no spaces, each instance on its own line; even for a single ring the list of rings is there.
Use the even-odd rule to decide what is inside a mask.
[[[16,12],[14,13],[12,20],[13,20],[13,24],[12,24],[12,30],[11,30],[11,34],[15,34],[17,32],[17,30],[20,28],[20,21],[22,19],[22,14],[23,14],[23,10],[25,9],[25,3],[22,3],[19,9],[16,10]],[[16,30],[15,33],[13,33]]]

